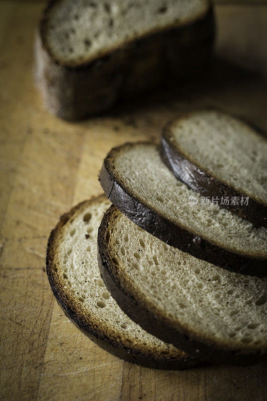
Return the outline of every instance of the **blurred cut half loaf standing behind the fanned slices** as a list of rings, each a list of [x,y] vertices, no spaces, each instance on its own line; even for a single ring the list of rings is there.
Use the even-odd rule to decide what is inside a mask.
[[[213,36],[208,0],[52,0],[38,29],[37,82],[53,113],[83,118],[199,74]]]

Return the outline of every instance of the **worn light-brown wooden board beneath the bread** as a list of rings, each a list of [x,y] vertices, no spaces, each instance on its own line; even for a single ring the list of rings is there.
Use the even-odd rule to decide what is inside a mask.
[[[157,140],[170,118],[195,106],[219,107],[267,130],[266,84],[217,60],[198,83],[119,106],[101,118],[66,123],[43,109],[33,84],[33,38],[42,7],[43,2],[0,2],[1,399],[263,401],[263,365],[157,371],[96,346],[55,302],[45,254],[60,215],[101,192],[97,174],[112,146]],[[225,7],[231,6],[217,9],[220,27],[228,24]],[[218,43],[226,36],[220,28]]]

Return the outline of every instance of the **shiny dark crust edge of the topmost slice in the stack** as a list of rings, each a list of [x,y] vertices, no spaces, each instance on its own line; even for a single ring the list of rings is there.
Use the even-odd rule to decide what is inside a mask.
[[[177,122],[177,119],[175,120]],[[248,196],[241,193],[229,184],[221,182],[215,175],[210,175],[205,168],[195,163],[190,155],[185,154],[175,141],[172,141],[172,125],[168,124],[162,134],[160,155],[166,166],[176,178],[184,182],[189,188],[203,196]],[[230,210],[244,220],[251,222],[256,228],[267,228],[267,207],[249,196],[248,205],[220,205]]]

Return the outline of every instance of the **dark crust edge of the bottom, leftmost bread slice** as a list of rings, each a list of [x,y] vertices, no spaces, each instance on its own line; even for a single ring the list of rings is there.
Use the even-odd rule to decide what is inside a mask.
[[[94,324],[92,319],[90,319],[90,316],[83,313],[77,300],[72,297],[71,293],[69,293],[66,288],[64,288],[64,283],[56,271],[57,262],[55,260],[56,244],[61,229],[67,222],[71,220],[76,212],[79,212],[84,207],[87,207],[90,205],[90,203],[98,202],[98,200],[103,199],[104,196],[105,195],[101,195],[97,198],[86,200],[85,202],[77,205],[69,213],[60,218],[60,222],[51,232],[48,241],[46,265],[49,283],[58,304],[61,306],[66,316],[92,341],[106,351],[128,362],[137,363],[139,365],[154,369],[186,369],[199,364],[197,359],[194,359],[188,355],[184,356],[183,353],[181,353],[180,357],[169,357],[167,355],[162,356],[156,351],[154,354],[151,354],[150,352],[141,352],[137,347],[134,347],[134,345],[132,348],[122,346],[119,342],[112,340],[103,332],[101,332],[97,325]]]

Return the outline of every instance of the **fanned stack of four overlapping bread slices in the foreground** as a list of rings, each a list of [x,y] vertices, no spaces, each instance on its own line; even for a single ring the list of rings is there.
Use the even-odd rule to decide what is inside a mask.
[[[265,138],[214,110],[160,145],[104,160],[105,194],[52,231],[47,273],[67,316],[130,362],[184,369],[267,358]]]

